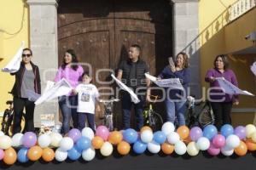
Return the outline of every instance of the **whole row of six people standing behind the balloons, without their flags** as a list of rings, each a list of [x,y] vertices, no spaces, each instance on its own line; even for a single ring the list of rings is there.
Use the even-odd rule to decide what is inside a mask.
[[[40,74],[37,65],[32,63],[32,50],[24,48],[20,70],[15,75],[15,85],[12,89],[14,95],[14,128],[13,133],[20,133],[21,116],[26,109],[26,123],[24,132],[34,131],[33,112],[34,102],[28,100],[26,90],[32,90],[41,94]],[[129,58],[122,61],[118,67],[117,78],[129,88],[136,92],[140,102],[134,104],[131,95],[122,92],[123,128],[129,128],[131,122],[131,107],[134,105],[136,117],[136,129],[143,127],[143,106],[150,101],[150,80],[145,77],[149,73],[148,65],[141,59],[141,47],[137,44],[129,48]],[[62,60],[62,65],[55,75],[55,82],[65,78],[73,88],[73,91],[66,96],[59,97],[59,106],[62,115],[61,133],[67,133],[70,128],[71,118],[73,127],[82,129],[86,119],[90,128],[95,130],[95,111],[100,111],[97,99],[100,94],[95,85],[91,84],[91,73],[84,71],[79,65],[79,60],[73,49],[68,49]],[[229,69],[229,62],[226,55],[218,55],[213,62],[213,68],[207,71],[205,81],[210,83],[211,94],[208,99],[212,105],[215,115],[215,124],[218,129],[231,123],[230,111],[232,105],[238,105],[238,96],[223,94],[219,88],[217,77],[224,77],[227,81],[237,86],[236,75]],[[160,72],[158,79],[178,78],[183,89],[166,88],[166,122],[177,122],[177,126],[185,125],[186,101],[188,96],[191,71],[189,69],[189,57],[185,53],[177,54],[169,64]]]

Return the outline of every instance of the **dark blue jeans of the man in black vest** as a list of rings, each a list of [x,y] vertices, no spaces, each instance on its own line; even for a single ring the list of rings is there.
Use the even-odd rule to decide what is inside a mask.
[[[135,117],[136,117],[136,130],[140,130],[143,127],[143,107],[145,105],[145,96],[138,95],[140,102],[134,104],[131,101],[131,96],[128,93],[123,94],[122,109],[123,109],[123,127],[124,129],[130,128],[131,122],[131,105],[134,105]]]

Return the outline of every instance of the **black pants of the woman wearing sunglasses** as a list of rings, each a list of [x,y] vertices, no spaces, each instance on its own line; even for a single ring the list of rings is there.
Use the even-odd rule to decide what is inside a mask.
[[[14,128],[13,133],[20,133],[20,122],[22,113],[25,107],[25,127],[24,132],[34,132],[34,110],[35,104],[32,101],[24,98],[14,98]]]

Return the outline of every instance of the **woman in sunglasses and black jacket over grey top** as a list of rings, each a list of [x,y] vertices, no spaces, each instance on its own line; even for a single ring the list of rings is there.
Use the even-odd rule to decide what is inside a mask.
[[[25,129],[23,132],[34,132],[34,109],[35,104],[33,101],[28,100],[26,91],[32,90],[37,94],[41,94],[40,74],[37,65],[34,65],[31,61],[32,50],[30,48],[24,48],[22,53],[22,61],[20,63],[19,71],[12,73],[15,75],[15,85],[12,89],[14,95],[14,127],[13,134],[20,133],[20,122],[22,118],[22,112],[26,110],[25,116]]]

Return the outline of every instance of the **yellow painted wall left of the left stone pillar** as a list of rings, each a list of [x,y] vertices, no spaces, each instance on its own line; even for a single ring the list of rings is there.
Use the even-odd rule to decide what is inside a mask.
[[[0,1],[0,68],[9,62],[21,41],[25,41],[28,47],[28,8],[25,0],[1,0]],[[7,107],[5,101],[12,99],[8,94],[14,84],[14,77],[0,71],[0,113]],[[0,114],[1,115],[1,114]]]

